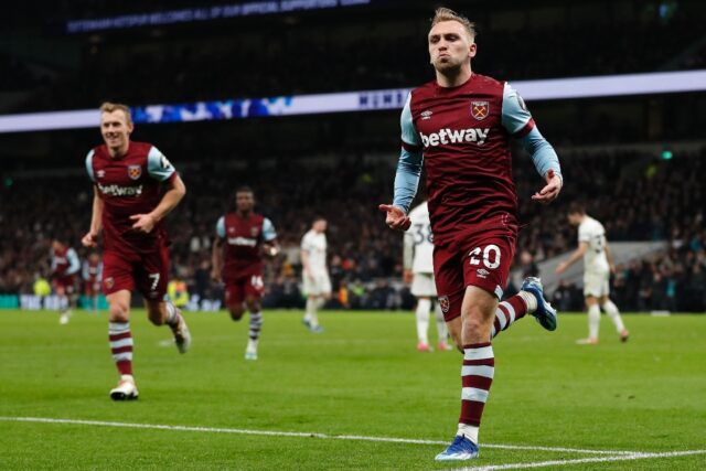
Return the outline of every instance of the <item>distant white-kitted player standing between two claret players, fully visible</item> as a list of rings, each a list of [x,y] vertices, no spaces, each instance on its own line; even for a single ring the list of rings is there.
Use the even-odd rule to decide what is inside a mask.
[[[327,220],[317,217],[311,229],[301,238],[301,267],[307,313],[302,322],[310,331],[323,332],[319,325],[319,309],[331,298],[331,280],[327,268]]]

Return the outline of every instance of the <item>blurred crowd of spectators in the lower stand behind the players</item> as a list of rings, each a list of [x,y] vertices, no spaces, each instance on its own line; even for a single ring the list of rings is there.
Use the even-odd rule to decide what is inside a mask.
[[[518,158],[520,159],[520,158]],[[217,218],[234,207],[234,191],[255,191],[257,211],[269,217],[282,253],[267,265],[268,307],[300,307],[299,243],[317,215],[329,221],[329,264],[334,287],[330,307],[397,309],[413,300],[402,285],[402,235],[388,231],[377,204],[389,201],[394,159],[362,156],[317,161],[281,159],[240,167],[184,163],[176,168],[188,196],[168,217],[172,276],[200,299],[218,299],[211,281],[211,247]],[[668,250],[617,267],[616,300],[623,310],[706,310],[706,151],[660,160],[635,152],[570,154],[563,158],[565,190],[550,206],[531,202],[542,181],[528,162],[516,162],[521,221],[517,254],[534,264],[576,247],[566,221],[571,201],[603,223],[609,240],[668,240]],[[58,176],[58,178],[57,178]],[[47,277],[53,237],[73,245],[90,217],[86,176],[17,179],[0,190],[0,293],[32,292]],[[518,260],[516,266],[527,260]],[[575,287],[554,293],[563,308],[580,309]]]

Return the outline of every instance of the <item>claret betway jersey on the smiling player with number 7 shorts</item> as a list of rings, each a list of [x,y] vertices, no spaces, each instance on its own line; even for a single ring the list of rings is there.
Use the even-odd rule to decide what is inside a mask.
[[[135,214],[150,213],[162,199],[162,182],[176,175],[167,158],[152,144],[130,142],[128,151],[111,158],[103,144],[86,156],[86,171],[103,200],[104,248],[122,254],[157,249],[167,240],[163,221],[145,234],[132,228]]]

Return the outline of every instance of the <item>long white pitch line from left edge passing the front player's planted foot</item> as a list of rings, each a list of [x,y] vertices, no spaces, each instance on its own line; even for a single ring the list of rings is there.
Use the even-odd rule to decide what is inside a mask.
[[[159,425],[159,424],[130,424],[115,422],[105,420],[83,420],[83,419],[57,419],[51,417],[0,417],[2,421],[18,422],[35,422],[35,424],[68,424],[68,425],[90,425],[101,427],[122,427],[122,428],[142,428],[152,430],[176,430],[176,431],[203,431],[211,433],[238,433],[238,435],[260,435],[269,437],[300,437],[300,438],[323,438],[332,440],[359,440],[359,441],[378,441],[387,443],[414,443],[414,445],[448,445],[448,441],[424,440],[416,438],[395,438],[395,437],[366,437],[360,435],[328,435],[319,432],[301,432],[301,431],[275,431],[275,430],[247,430],[239,428],[216,428],[216,427],[191,427],[179,425]],[[571,452],[586,454],[637,454],[637,451],[609,451],[609,450],[584,450],[577,448],[552,448],[552,447],[533,447],[520,445],[485,445],[486,448],[499,448],[503,450],[535,450],[535,451],[555,451]]]

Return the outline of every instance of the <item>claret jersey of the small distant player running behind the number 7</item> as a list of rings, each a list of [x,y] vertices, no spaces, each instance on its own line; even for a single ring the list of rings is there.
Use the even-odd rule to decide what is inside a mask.
[[[245,271],[261,269],[263,243],[277,238],[275,226],[261,214],[247,217],[237,212],[222,216],[216,223],[216,235],[225,240],[223,279],[233,281]]]

